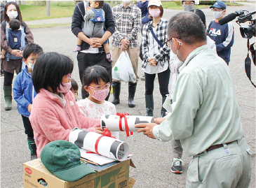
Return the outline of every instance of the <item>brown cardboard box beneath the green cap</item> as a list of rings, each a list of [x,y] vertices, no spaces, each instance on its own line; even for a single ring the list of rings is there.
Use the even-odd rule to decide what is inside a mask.
[[[131,188],[135,180],[129,178],[130,166],[134,166],[133,162],[131,159],[127,159],[105,170],[86,175],[76,182],[65,182],[50,173],[43,166],[41,159],[35,159],[23,165],[24,187],[46,188],[39,183],[39,180],[44,180],[47,182],[47,188]]]

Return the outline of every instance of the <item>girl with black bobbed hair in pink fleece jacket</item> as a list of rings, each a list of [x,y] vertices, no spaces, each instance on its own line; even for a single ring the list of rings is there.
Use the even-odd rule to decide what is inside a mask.
[[[100,120],[84,117],[76,104],[71,87],[72,59],[47,52],[34,65],[32,81],[38,93],[29,120],[34,130],[37,157],[43,147],[54,140],[69,140],[75,127],[100,131]]]

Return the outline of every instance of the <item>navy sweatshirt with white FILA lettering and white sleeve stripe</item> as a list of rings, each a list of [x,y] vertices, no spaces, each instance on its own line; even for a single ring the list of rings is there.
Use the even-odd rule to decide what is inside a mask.
[[[209,24],[207,34],[215,41],[217,55],[229,64],[231,46],[234,44],[234,27],[231,22],[220,25],[213,20]]]

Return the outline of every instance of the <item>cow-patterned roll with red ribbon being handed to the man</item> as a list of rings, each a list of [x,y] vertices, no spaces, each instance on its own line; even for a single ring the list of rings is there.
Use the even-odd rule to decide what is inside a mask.
[[[100,117],[100,126],[109,131],[126,131],[126,135],[130,132],[137,131],[135,124],[154,123],[154,117],[127,115],[126,113],[116,113],[116,115],[102,115]]]

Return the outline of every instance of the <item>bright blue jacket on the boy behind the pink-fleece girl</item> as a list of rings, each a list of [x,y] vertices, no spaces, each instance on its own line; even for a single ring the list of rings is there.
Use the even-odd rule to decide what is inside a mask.
[[[17,109],[21,115],[29,117],[27,106],[32,104],[36,96],[36,90],[32,83],[32,75],[27,72],[27,66],[16,76],[13,83],[13,98],[17,102]]]

